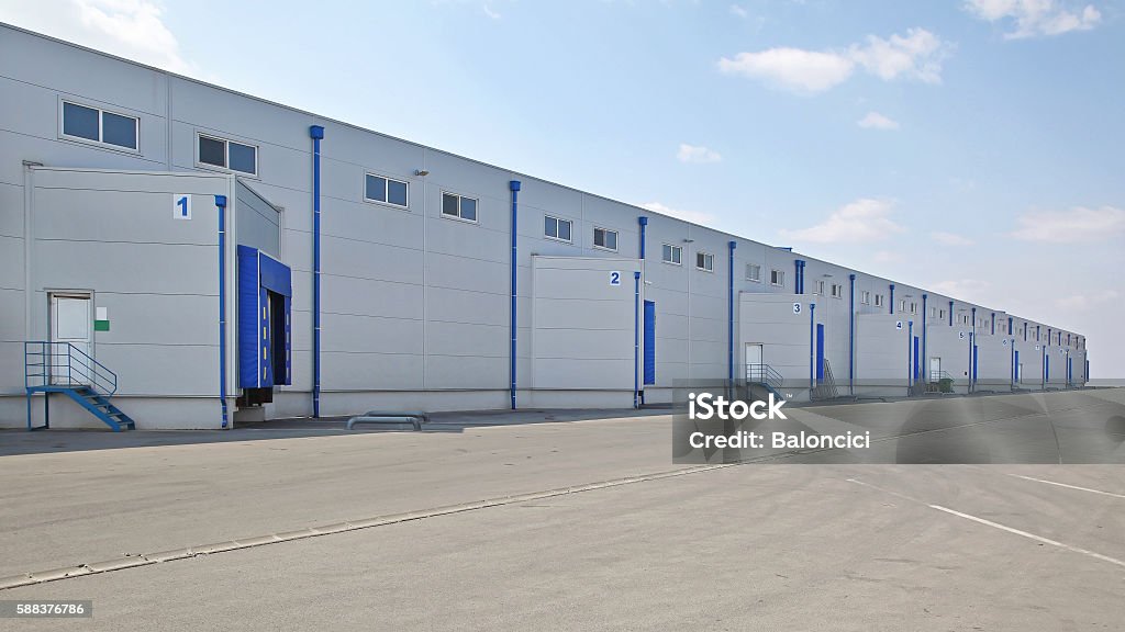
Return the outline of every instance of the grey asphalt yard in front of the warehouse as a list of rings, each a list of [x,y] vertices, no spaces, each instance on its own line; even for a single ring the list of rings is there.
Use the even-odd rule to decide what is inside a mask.
[[[648,416],[3,457],[0,576],[688,467],[669,441]],[[0,590],[96,613],[0,626],[1125,625],[1122,466],[742,464],[584,489]]]

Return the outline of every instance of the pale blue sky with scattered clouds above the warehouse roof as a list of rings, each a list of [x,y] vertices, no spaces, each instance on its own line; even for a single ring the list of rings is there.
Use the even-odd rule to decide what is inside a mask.
[[[1122,0],[0,0],[0,20],[1054,323],[1125,377]]]

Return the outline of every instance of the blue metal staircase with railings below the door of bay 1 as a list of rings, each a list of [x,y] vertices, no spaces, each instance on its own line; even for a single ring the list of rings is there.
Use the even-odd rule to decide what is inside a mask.
[[[136,423],[110,403],[117,392],[117,373],[69,342],[24,343],[24,388],[27,391],[27,430],[51,427],[51,394],[70,397],[114,432],[135,430]],[[32,425],[32,399],[43,394],[43,425]]]

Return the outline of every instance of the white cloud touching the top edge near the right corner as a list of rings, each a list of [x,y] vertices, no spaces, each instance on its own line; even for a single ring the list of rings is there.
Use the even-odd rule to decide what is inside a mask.
[[[1070,0],[968,0],[964,4],[982,20],[1014,22],[1014,30],[1004,34],[1007,39],[1089,30],[1101,21],[1094,4],[1079,7]]]

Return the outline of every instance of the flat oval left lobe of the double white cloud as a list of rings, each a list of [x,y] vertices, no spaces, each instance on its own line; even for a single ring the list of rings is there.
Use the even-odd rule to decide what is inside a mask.
[[[801,48],[770,48],[760,53],[739,53],[734,60],[719,60],[719,70],[758,79],[795,92],[824,92],[852,76],[855,64],[838,53],[818,53]]]

